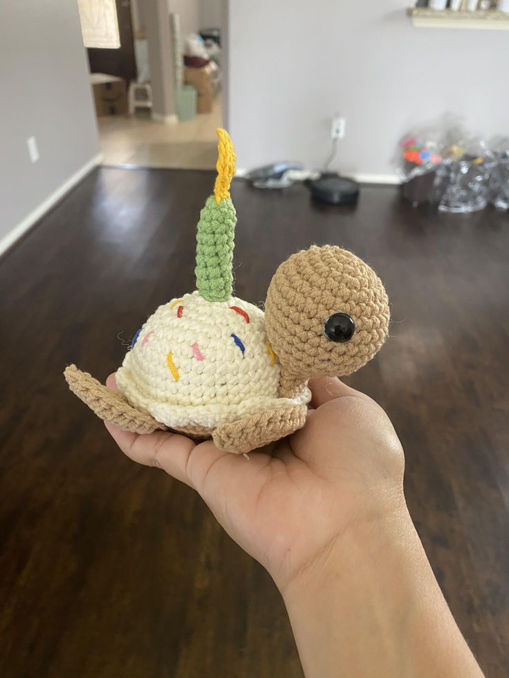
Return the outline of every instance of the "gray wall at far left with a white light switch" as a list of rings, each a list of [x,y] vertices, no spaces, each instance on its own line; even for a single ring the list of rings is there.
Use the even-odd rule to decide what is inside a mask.
[[[39,162],[26,139],[37,138]],[[77,3],[0,3],[0,238],[99,152]]]

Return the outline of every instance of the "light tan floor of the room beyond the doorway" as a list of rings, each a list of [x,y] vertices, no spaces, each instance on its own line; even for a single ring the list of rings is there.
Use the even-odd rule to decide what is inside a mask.
[[[132,117],[100,117],[102,164],[214,169],[216,128],[221,126],[222,117],[221,94],[214,100],[212,113],[176,124],[154,122],[148,111],[138,111]]]

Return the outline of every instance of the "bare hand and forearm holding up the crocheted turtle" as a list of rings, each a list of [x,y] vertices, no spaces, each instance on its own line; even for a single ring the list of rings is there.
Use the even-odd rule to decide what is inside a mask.
[[[249,460],[177,433],[107,429],[131,459],[194,487],[268,569],[306,677],[482,677],[411,523],[387,415],[339,379],[310,386],[304,429]]]

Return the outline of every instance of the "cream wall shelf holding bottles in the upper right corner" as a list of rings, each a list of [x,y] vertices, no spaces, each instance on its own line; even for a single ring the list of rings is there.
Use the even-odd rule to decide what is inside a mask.
[[[509,30],[509,14],[497,10],[432,10],[411,7],[408,15],[418,28],[475,28],[481,30]]]

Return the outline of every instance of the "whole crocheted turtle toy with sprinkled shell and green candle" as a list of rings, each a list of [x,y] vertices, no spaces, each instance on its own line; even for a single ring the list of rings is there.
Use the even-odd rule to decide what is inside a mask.
[[[196,292],[161,305],[138,330],[116,373],[120,393],[75,365],[64,374],[73,393],[122,429],[171,429],[246,453],[304,426],[308,379],[349,375],[376,354],[389,305],[373,270],[330,245],[279,266],[265,314],[232,296],[236,158],[228,133],[218,135],[214,196],[198,223]]]

